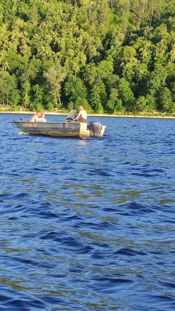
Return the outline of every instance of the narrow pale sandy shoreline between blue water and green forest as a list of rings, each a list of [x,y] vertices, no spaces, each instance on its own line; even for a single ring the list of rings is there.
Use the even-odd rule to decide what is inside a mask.
[[[35,112],[30,111],[0,111],[0,114],[35,114]],[[61,112],[44,112],[45,115],[62,115],[67,116],[67,114]],[[141,116],[141,115],[118,115],[118,114],[87,114],[88,117],[113,117],[113,118],[153,118],[153,119],[175,119],[175,116]]]

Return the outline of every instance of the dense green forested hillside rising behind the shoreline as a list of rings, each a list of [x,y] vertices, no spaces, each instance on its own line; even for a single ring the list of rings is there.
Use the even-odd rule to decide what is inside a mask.
[[[175,0],[0,0],[0,104],[175,112]]]

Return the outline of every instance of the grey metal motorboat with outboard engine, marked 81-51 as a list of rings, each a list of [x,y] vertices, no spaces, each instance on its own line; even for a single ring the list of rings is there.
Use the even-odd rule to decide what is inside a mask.
[[[105,125],[100,121],[81,123],[73,121],[77,111],[72,110],[64,122],[31,122],[30,120],[13,121],[23,133],[58,137],[103,137]]]

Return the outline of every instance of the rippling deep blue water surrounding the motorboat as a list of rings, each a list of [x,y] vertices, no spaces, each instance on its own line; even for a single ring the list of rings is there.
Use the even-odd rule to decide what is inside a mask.
[[[21,117],[0,114],[0,310],[173,311],[175,119],[66,139]]]

